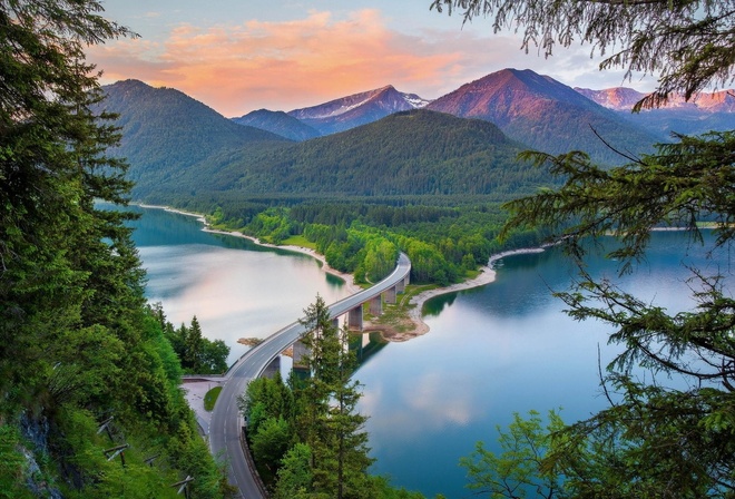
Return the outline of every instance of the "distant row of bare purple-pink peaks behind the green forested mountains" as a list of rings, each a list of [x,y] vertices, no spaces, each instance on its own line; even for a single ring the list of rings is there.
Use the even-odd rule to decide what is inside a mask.
[[[278,114],[258,110],[234,118],[295,140],[329,135],[375,121],[391,112],[427,108],[499,126],[530,148],[557,154],[584,149],[601,163],[618,163],[611,148],[644,153],[669,140],[672,131],[700,134],[735,128],[733,92],[703,94],[693,102],[675,96],[665,109],[631,114],[645,94],[630,88],[589,90],[570,88],[531,70],[504,69],[488,75],[435,100],[388,86],[286,112],[292,130]],[[277,121],[276,121],[277,119]],[[274,123],[275,121],[275,123]],[[307,125],[310,134],[296,127]],[[607,144],[606,144],[607,143]]]

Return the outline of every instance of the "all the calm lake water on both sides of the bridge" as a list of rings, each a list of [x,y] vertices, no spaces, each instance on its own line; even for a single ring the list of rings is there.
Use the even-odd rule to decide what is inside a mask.
[[[315,260],[204,233],[195,218],[146,209],[137,225],[149,299],[175,324],[196,314],[207,336],[233,348],[231,360],[245,351],[238,337],[265,337],[293,322],[316,293],[327,303],[346,295]],[[729,272],[729,256],[715,266],[686,247],[679,233],[655,234],[647,262],[623,285],[670,310],[690,307],[679,264]],[[597,258],[589,271],[615,277],[616,268]],[[493,284],[430,301],[427,335],[372,355],[355,378],[364,385],[373,471],[428,497],[470,497],[459,458],[478,440],[492,448],[496,425],[513,412],[562,408],[572,421],[605,407],[597,359],[598,349],[602,364],[617,352],[607,345],[610,329],[570,320],[551,296],[574,275],[557,251],[507,257]]]

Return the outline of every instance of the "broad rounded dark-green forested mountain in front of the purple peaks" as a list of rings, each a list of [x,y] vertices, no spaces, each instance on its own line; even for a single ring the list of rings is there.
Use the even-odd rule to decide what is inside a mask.
[[[549,185],[545,170],[516,160],[522,147],[494,125],[414,109],[347,131],[257,157],[200,164],[180,189],[214,189],[228,178],[231,197],[414,196],[530,193]]]

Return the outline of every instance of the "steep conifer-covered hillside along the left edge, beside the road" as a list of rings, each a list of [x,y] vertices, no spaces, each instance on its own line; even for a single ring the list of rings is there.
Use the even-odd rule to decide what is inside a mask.
[[[94,1],[0,4],[0,497],[198,498],[229,487],[146,305],[119,136],[89,42],[128,30]],[[166,151],[168,153],[168,151]]]

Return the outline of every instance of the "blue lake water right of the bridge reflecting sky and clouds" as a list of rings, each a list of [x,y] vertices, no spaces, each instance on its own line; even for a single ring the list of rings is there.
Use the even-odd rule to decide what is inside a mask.
[[[673,311],[694,305],[680,263],[709,271],[728,265],[727,253],[707,263],[680,234],[656,234],[654,243],[620,284]],[[588,270],[616,278],[619,268],[598,256]],[[429,497],[469,497],[459,458],[477,440],[492,448],[496,425],[509,424],[513,412],[562,408],[562,418],[574,421],[606,407],[599,369],[620,348],[607,344],[609,325],[562,313],[551,291],[567,290],[575,275],[558,248],[508,257],[496,283],[429,302],[429,334],[391,344],[361,368],[374,471]]]

